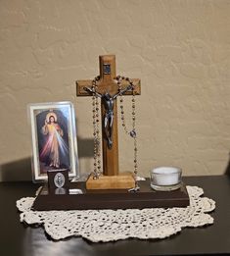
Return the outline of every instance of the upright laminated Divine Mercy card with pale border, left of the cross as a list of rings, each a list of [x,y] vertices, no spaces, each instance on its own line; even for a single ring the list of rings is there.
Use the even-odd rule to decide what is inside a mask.
[[[47,171],[69,170],[79,176],[73,105],[70,102],[30,104],[33,181],[44,181]]]

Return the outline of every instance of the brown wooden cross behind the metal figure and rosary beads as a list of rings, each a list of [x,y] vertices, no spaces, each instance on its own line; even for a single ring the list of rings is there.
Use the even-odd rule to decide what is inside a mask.
[[[103,55],[99,56],[99,65],[100,65],[100,80],[98,82],[98,89],[97,92],[101,95],[105,95],[105,93],[110,93],[110,95],[115,95],[118,93],[117,89],[117,82],[115,80],[115,55]],[[141,86],[140,86],[140,79],[134,78],[132,79],[134,85],[134,93],[139,95],[141,93]],[[128,86],[128,82],[123,80],[121,83],[121,88],[126,88]],[[92,80],[77,80],[76,81],[76,95],[77,96],[92,96],[89,90],[85,88],[92,87]],[[132,95],[132,90],[125,90],[123,95]],[[111,188],[129,188],[129,187],[122,187],[121,181],[127,179],[125,177],[119,178],[118,176],[118,137],[117,137],[117,105],[116,105],[116,97],[113,102],[114,106],[114,122],[113,122],[113,134],[112,134],[112,141],[113,146],[108,144],[108,137],[106,137],[105,132],[102,132],[102,143],[103,143],[103,180],[95,180],[94,183],[103,183],[96,185],[94,188],[105,188],[106,180],[112,180],[109,183],[119,183],[116,185],[109,184],[109,186],[113,186]],[[101,113],[102,113],[102,129],[103,121],[106,115],[107,109],[105,104],[101,101]],[[105,178],[108,177],[108,178]],[[110,178],[109,178],[110,177]],[[117,179],[117,180],[116,180]],[[117,181],[117,182],[116,182]],[[127,181],[127,180],[126,180]],[[129,185],[126,186],[133,186],[134,181],[133,179],[129,182]],[[125,186],[125,185],[124,185]],[[108,187],[110,188],[110,187]]]

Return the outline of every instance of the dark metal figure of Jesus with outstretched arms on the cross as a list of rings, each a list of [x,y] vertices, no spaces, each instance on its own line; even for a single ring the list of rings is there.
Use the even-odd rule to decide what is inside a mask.
[[[131,90],[134,87],[129,84],[124,89],[119,90],[115,95],[111,95],[109,92],[105,92],[104,94],[95,91],[90,87],[84,87],[84,90],[91,92],[93,95],[100,97],[102,100],[102,104],[105,107],[106,113],[103,118],[103,128],[106,134],[108,147],[111,149],[113,147],[113,125],[114,125],[114,106],[115,99],[119,95],[123,95],[127,90]]]

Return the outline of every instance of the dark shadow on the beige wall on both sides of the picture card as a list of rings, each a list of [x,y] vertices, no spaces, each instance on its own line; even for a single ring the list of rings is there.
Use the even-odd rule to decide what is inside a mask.
[[[77,138],[78,158],[93,157],[94,141],[91,138]],[[1,181],[32,180],[31,159],[24,158],[0,166]]]

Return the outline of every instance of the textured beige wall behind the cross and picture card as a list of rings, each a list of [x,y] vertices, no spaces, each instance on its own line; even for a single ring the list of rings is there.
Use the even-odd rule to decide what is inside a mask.
[[[75,79],[98,75],[114,53],[117,74],[140,77],[140,173],[175,165],[223,174],[230,150],[230,1],[1,0],[0,179],[30,179],[30,102],[74,102],[81,172],[92,168],[91,101]],[[120,169],[132,141],[120,130]]]

